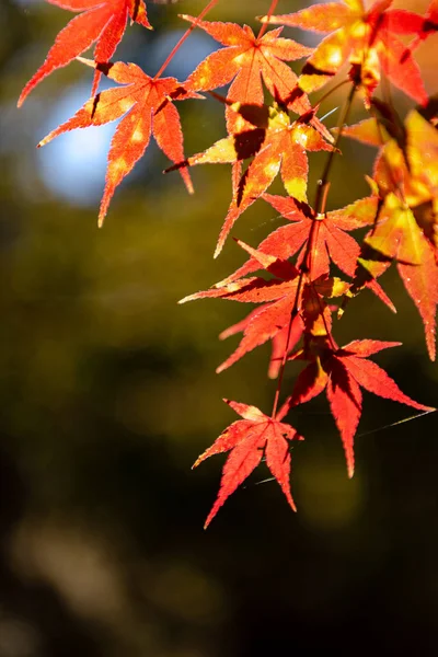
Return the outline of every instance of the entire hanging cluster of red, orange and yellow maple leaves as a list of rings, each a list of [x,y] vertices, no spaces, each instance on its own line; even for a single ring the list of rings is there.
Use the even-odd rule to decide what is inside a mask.
[[[227,497],[265,457],[290,506],[290,443],[302,437],[284,418],[296,406],[324,390],[344,446],[348,475],[354,473],[354,438],[361,415],[361,388],[379,396],[430,411],[405,395],[369,357],[400,343],[358,339],[339,347],[333,315],[343,314],[348,300],[371,289],[395,310],[378,278],[394,262],[423,320],[430,359],[436,356],[438,303],[438,101],[429,96],[415,60],[418,45],[438,32],[438,1],[424,15],[393,9],[392,0],[314,4],[296,13],[260,18],[257,35],[247,26],[181,15],[189,32],[203,30],[222,47],[206,57],[187,80],[163,78],[164,62],[151,78],[134,64],[111,62],[127,20],[150,28],[143,0],[49,0],[81,12],[58,34],[43,66],[24,88],[19,105],[49,73],[74,58],[94,69],[90,100],[73,117],[53,130],[38,146],[58,135],[122,118],[108,152],[102,224],[117,185],[145,153],[151,135],[177,169],[189,193],[188,169],[195,164],[230,163],[232,198],[215,256],[220,253],[237,219],[263,199],[284,219],[256,249],[238,240],[247,255],[244,264],[209,290],[182,300],[222,298],[256,304],[221,337],[243,333],[233,354],[218,371],[268,341],[270,378],[278,378],[273,411],[227,401],[242,419],[231,424],[199,457],[230,452],[210,522]],[[272,25],[280,27],[270,28]],[[281,36],[284,26],[325,34],[315,48]],[[80,57],[95,43],[92,60]],[[177,48],[171,54],[171,57]],[[288,62],[303,59],[297,76]],[[118,87],[97,93],[102,74]],[[348,92],[337,130],[318,117],[319,104],[309,97],[334,78]],[[227,96],[215,90],[229,84]],[[391,84],[416,106],[401,118]],[[227,136],[206,151],[185,158],[175,101],[210,93],[224,105]],[[346,126],[355,96],[367,118]],[[270,97],[270,102],[266,102]],[[321,99],[320,99],[321,100]],[[330,172],[342,136],[378,149],[370,194],[347,207],[327,211]],[[326,151],[313,207],[308,200],[308,152]],[[285,196],[267,193],[280,174]],[[356,241],[349,233],[365,228]],[[362,231],[364,232],[364,231]],[[303,361],[289,396],[279,406],[284,370],[289,360]],[[279,410],[278,410],[279,408]]]

